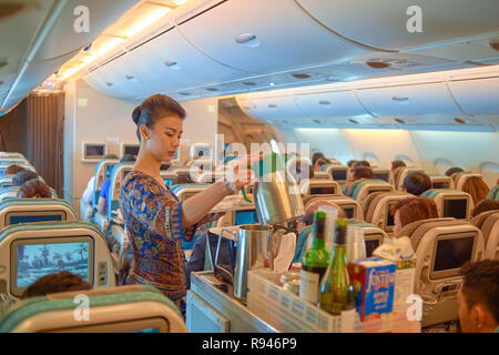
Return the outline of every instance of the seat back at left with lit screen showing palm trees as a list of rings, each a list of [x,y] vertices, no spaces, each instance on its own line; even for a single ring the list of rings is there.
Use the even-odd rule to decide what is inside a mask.
[[[79,274],[93,288],[115,285],[111,255],[102,233],[85,222],[17,224],[0,232],[0,294],[11,298],[39,277],[63,270]]]

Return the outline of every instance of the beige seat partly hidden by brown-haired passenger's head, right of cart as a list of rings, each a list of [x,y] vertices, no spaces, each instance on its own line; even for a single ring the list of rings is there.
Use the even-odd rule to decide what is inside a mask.
[[[391,205],[400,200],[414,197],[414,195],[398,191],[373,193],[371,195],[374,195],[373,201],[365,214],[366,222],[381,229],[387,235],[393,235],[395,221],[390,213]]]

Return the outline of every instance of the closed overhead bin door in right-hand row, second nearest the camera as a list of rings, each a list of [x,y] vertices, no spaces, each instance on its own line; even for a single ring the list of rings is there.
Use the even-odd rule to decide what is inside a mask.
[[[444,82],[387,85],[357,89],[364,106],[377,116],[459,116]]]

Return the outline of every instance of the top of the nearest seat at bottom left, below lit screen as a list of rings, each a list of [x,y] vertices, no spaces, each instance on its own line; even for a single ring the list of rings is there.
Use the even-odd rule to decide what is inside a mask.
[[[0,321],[0,333],[75,332],[186,333],[187,328],[177,306],[146,285],[32,297],[9,308]]]

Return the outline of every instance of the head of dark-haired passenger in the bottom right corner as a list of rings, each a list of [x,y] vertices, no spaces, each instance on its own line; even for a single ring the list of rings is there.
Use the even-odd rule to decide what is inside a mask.
[[[492,333],[499,324],[499,261],[466,263],[458,291],[462,333]]]

